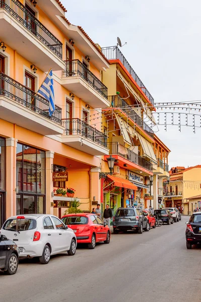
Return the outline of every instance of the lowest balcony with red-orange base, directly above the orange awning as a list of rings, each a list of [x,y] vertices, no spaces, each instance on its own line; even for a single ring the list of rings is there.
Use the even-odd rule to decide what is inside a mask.
[[[126,147],[119,144],[118,142],[109,142],[108,148],[109,148],[109,154],[111,154],[112,156],[119,155],[127,160],[125,163],[123,162],[122,165],[119,163],[120,166],[128,167],[129,170],[143,170],[142,168],[144,168],[152,172],[153,165],[150,162],[146,161],[144,158],[139,157],[136,153],[127,149]],[[119,159],[116,160],[119,161]],[[135,165],[132,165],[128,161]],[[144,170],[144,172],[146,171]]]

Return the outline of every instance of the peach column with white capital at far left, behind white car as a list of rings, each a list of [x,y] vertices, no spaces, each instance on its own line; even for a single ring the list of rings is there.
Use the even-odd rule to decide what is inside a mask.
[[[6,218],[16,215],[16,148],[17,139],[6,138]]]

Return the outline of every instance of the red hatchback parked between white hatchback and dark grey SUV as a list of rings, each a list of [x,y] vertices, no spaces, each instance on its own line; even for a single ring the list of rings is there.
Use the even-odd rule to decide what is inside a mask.
[[[89,249],[94,249],[97,242],[110,243],[110,229],[107,223],[95,214],[68,214],[61,220],[74,231],[77,242],[88,243]]]

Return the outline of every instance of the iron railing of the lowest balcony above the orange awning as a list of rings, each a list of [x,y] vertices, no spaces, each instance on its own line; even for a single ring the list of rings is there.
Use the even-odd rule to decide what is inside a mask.
[[[108,146],[110,155],[120,155],[132,163],[135,163],[149,171],[153,171],[153,165],[150,162],[148,162],[144,158],[138,156],[138,154],[136,154],[135,152],[132,152],[131,150],[126,148],[124,145],[122,145],[118,142],[109,142],[107,144],[107,146]]]

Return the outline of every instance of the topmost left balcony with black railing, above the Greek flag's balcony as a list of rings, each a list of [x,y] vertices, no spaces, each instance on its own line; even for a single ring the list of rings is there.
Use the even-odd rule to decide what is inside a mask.
[[[43,71],[64,68],[62,43],[18,0],[0,0],[1,40]]]

